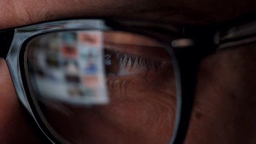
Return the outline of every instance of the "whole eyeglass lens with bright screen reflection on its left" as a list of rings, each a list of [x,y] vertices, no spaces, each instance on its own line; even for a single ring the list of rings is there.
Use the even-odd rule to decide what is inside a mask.
[[[38,111],[69,143],[168,143],[176,112],[172,57],[122,31],[54,32],[27,45]]]

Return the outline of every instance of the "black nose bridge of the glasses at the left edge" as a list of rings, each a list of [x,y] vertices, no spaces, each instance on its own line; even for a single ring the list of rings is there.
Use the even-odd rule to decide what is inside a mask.
[[[14,29],[0,31],[0,58],[6,59],[13,41]]]

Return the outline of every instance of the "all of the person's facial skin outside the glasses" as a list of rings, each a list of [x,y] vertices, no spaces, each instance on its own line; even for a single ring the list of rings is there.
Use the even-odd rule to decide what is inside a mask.
[[[61,4],[60,4],[61,3]],[[211,24],[253,12],[243,1],[83,1],[2,0],[0,28],[79,16],[155,19],[184,24]],[[157,5],[157,6],[156,6]],[[120,9],[122,12],[120,12]],[[223,11],[224,10],[224,11]],[[228,10],[228,11],[226,11]],[[185,144],[256,143],[255,45],[220,51],[200,65],[192,119]],[[40,143],[21,111],[8,68],[0,61],[0,141]]]

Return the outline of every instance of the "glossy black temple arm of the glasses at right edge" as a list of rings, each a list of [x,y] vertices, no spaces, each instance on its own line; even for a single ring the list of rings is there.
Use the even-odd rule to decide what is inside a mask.
[[[256,42],[256,21],[216,32],[214,43],[217,50]]]

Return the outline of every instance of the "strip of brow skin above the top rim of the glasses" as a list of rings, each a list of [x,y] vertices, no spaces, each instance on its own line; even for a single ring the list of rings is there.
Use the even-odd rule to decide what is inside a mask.
[[[131,17],[209,24],[255,10],[255,0],[1,0],[0,29],[52,19]],[[4,13],[4,14],[3,14]]]

